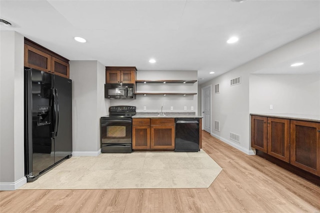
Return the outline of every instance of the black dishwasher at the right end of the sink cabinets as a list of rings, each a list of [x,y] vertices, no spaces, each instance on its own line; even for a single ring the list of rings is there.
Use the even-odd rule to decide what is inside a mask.
[[[199,150],[199,118],[175,118],[174,151]]]

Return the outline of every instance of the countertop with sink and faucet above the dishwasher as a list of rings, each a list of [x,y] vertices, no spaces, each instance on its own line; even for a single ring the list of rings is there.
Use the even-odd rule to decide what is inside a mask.
[[[132,118],[202,118],[195,115],[195,112],[164,112],[164,116],[158,114],[159,112],[136,112]]]

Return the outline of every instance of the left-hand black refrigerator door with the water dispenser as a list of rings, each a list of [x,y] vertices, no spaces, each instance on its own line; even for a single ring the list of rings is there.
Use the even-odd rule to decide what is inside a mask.
[[[25,175],[30,178],[54,164],[51,77],[50,73],[25,68]]]

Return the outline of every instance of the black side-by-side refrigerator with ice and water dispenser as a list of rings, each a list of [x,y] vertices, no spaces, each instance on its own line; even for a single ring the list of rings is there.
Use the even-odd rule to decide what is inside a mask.
[[[24,174],[35,180],[72,153],[71,79],[24,67]]]

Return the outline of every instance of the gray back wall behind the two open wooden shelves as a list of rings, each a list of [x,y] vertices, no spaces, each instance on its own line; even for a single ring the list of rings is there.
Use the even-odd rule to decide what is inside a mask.
[[[197,71],[179,70],[137,70],[138,80],[196,80]],[[192,92],[197,93],[195,83],[137,83],[137,92]],[[163,105],[163,111],[187,111],[197,114],[197,95],[136,95],[134,100],[110,100],[111,105],[134,105],[139,112],[158,112]],[[143,110],[146,106],[146,110]],[[173,110],[170,109],[173,106]],[[184,110],[186,106],[187,110]],[[191,110],[193,106],[193,110]]]

